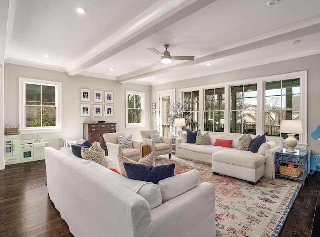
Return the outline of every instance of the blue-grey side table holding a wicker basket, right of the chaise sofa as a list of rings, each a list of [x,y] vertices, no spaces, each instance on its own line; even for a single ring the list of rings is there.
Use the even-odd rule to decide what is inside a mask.
[[[298,180],[302,182],[302,185],[305,183],[305,179],[308,175],[308,167],[309,167],[309,151],[295,149],[296,153],[287,152],[287,148],[281,148],[275,153],[275,178],[284,177],[288,179]],[[285,164],[294,164],[303,167],[303,172],[299,175],[299,177],[291,177],[280,174],[280,171],[277,169],[277,163],[285,163]]]

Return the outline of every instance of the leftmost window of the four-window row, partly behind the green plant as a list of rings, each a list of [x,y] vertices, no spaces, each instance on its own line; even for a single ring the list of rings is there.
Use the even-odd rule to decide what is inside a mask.
[[[183,93],[183,103],[186,111],[184,112],[186,128],[197,130],[199,128],[199,106],[200,93],[199,91],[189,91]]]

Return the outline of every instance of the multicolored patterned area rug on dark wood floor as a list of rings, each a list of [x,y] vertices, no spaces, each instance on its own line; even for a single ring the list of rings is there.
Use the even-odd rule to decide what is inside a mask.
[[[277,237],[301,189],[290,179],[260,179],[255,186],[229,176],[213,175],[211,164],[156,158],[156,165],[175,163],[175,173],[197,169],[202,182],[215,184],[216,236]]]

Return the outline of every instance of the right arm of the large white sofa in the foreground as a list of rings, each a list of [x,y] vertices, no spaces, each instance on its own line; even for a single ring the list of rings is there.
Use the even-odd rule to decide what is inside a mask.
[[[215,237],[215,186],[203,182],[151,210],[150,236]],[[194,225],[196,220],[196,225]],[[165,227],[165,228],[164,228]]]

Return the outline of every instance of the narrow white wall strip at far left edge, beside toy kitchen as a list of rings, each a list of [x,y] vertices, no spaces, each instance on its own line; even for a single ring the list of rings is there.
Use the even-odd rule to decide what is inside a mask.
[[[0,111],[4,110],[4,69],[0,65]],[[0,170],[4,169],[4,113],[0,113]]]

